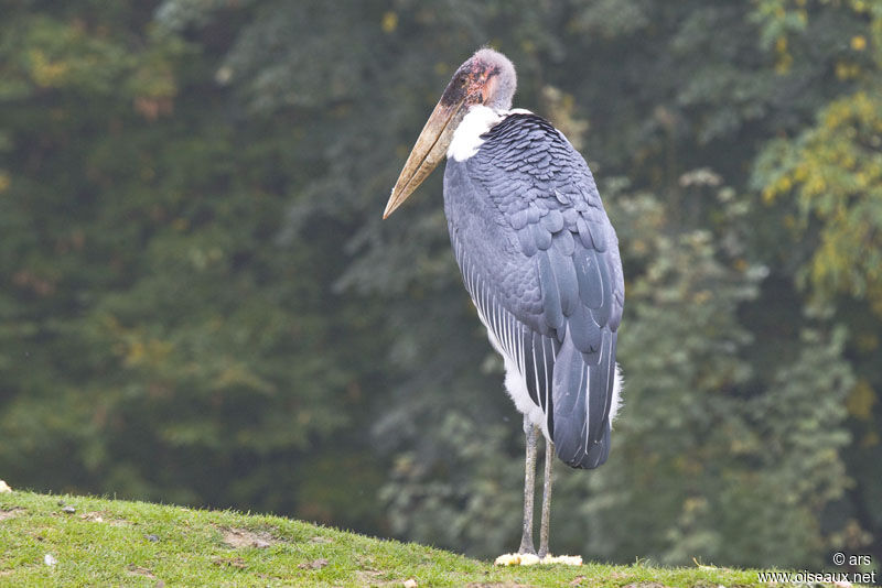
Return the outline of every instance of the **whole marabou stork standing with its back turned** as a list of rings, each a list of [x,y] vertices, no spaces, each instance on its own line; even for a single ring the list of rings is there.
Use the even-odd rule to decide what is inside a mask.
[[[547,120],[512,110],[515,68],[478,50],[434,107],[383,218],[447,154],[444,214],[465,288],[505,363],[527,437],[524,533],[536,554],[537,437],[546,439],[539,553],[548,554],[552,454],[596,468],[620,403],[615,342],[624,306],[619,240],[584,159]]]

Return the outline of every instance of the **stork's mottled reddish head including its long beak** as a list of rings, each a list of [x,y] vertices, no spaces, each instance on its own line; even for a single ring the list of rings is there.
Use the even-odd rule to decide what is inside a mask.
[[[469,109],[476,105],[494,110],[512,108],[516,85],[515,66],[492,48],[478,50],[462,64],[417,138],[383,218],[391,215],[441,163],[453,140],[453,131]]]

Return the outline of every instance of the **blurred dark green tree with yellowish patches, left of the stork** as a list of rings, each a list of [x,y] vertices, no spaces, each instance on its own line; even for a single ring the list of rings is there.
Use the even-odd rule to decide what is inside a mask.
[[[331,293],[332,220],[278,238],[302,135],[230,109],[203,53],[220,32],[73,4],[2,23],[0,469],[379,530],[381,375],[357,350],[381,334]],[[362,491],[316,492],[341,464]]]

